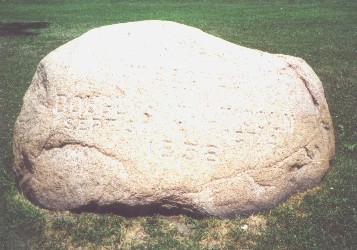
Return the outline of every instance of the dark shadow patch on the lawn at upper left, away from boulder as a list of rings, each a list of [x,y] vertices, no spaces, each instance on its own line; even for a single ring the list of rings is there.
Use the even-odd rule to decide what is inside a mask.
[[[44,29],[49,26],[48,22],[30,23],[0,23],[1,36],[34,36],[39,33],[32,30]]]

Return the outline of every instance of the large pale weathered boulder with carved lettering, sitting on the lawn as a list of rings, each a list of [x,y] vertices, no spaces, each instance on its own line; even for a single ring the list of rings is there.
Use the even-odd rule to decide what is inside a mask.
[[[144,21],[91,30],[40,62],[14,154],[19,187],[48,209],[226,217],[318,183],[334,136],[302,59]]]

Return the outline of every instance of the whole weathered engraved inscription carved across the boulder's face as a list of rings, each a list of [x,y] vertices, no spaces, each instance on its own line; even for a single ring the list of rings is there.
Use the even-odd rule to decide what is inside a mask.
[[[280,135],[292,133],[294,129],[294,117],[287,112],[240,110],[234,106],[220,107],[220,110],[215,113],[216,118],[212,118],[207,123],[204,121],[195,123],[196,118],[193,113],[195,109],[189,105],[177,105],[176,108],[180,109],[177,113],[187,114],[181,117],[183,119],[180,119],[179,126],[192,121],[190,119],[193,119],[193,124],[202,122],[202,135],[205,135],[210,143],[200,140],[183,140],[189,135],[186,132],[180,135],[181,139],[179,139],[180,136],[171,138],[168,134],[164,140],[160,140],[154,139],[150,134],[153,131],[158,132],[156,129],[159,128],[155,127],[157,125],[152,123],[157,114],[134,110],[134,108],[130,109],[130,104],[125,105],[119,97],[57,95],[53,100],[52,112],[57,117],[56,122],[67,130],[76,133],[86,131],[95,133],[94,130],[103,129],[102,132],[111,135],[120,136],[128,133],[144,135],[150,141],[151,153],[158,159],[183,159],[207,164],[217,164],[222,161],[222,148],[214,144],[218,137],[225,138],[224,143],[230,147],[253,149],[260,145],[264,150],[269,151],[277,146],[282,138]],[[208,105],[206,108],[211,109]],[[165,119],[160,120],[160,122],[165,121]],[[227,121],[231,122],[227,123]],[[158,133],[162,134],[161,131]]]

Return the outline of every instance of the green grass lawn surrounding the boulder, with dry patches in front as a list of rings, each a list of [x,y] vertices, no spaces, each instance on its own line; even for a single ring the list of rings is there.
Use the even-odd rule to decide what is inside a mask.
[[[356,249],[356,13],[355,0],[0,1],[1,23],[49,23],[37,35],[0,36],[0,249]],[[323,182],[231,220],[49,212],[24,199],[11,168],[12,127],[39,61],[91,28],[144,19],[304,58],[324,84],[335,126],[336,160]]]

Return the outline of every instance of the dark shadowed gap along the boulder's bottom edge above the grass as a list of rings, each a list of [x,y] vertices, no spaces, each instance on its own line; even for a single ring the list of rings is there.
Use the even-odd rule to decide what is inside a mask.
[[[99,205],[97,202],[90,202],[88,205],[81,206],[73,209],[74,213],[93,212],[99,214],[116,214],[124,217],[137,217],[137,216],[176,216],[187,215],[193,218],[203,218],[207,215],[204,211],[200,211],[193,207],[178,203],[153,203],[148,205],[127,205],[127,204],[112,204],[112,205]]]

